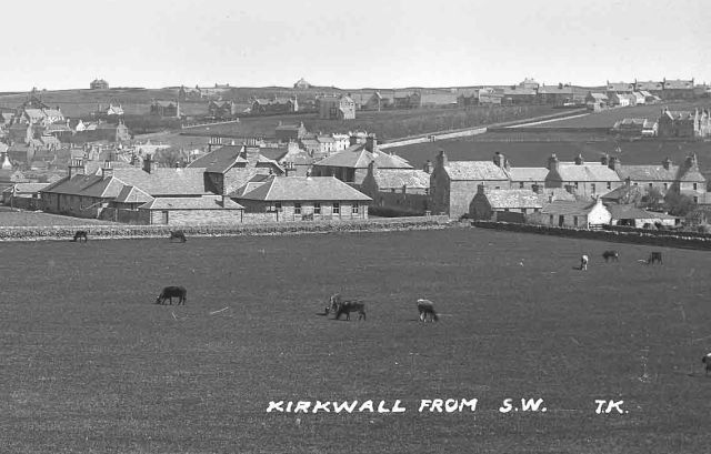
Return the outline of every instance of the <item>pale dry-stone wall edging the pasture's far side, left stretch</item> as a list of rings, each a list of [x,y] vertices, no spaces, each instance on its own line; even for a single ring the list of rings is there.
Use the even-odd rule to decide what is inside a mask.
[[[48,225],[2,226],[2,241],[71,240],[79,230],[90,240],[169,238],[170,231],[182,230],[187,236],[294,235],[331,232],[390,232],[433,230],[453,225],[445,215],[370,219],[362,221],[279,222],[240,225]]]

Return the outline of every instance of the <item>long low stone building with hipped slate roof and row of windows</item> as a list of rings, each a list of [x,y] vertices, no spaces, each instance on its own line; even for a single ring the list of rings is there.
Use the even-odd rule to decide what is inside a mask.
[[[333,176],[272,176],[237,201],[270,221],[368,219],[371,198]]]

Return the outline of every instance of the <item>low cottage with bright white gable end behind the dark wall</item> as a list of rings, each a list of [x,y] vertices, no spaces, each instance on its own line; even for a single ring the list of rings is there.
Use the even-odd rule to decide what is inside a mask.
[[[531,222],[561,228],[591,229],[609,225],[612,214],[602,204],[602,199],[595,201],[553,201],[545,204],[540,213],[529,218]]]

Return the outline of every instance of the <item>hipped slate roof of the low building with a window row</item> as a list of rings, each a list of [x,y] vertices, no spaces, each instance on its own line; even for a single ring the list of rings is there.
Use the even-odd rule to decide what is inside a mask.
[[[259,201],[370,201],[334,176],[272,176],[240,199]]]

